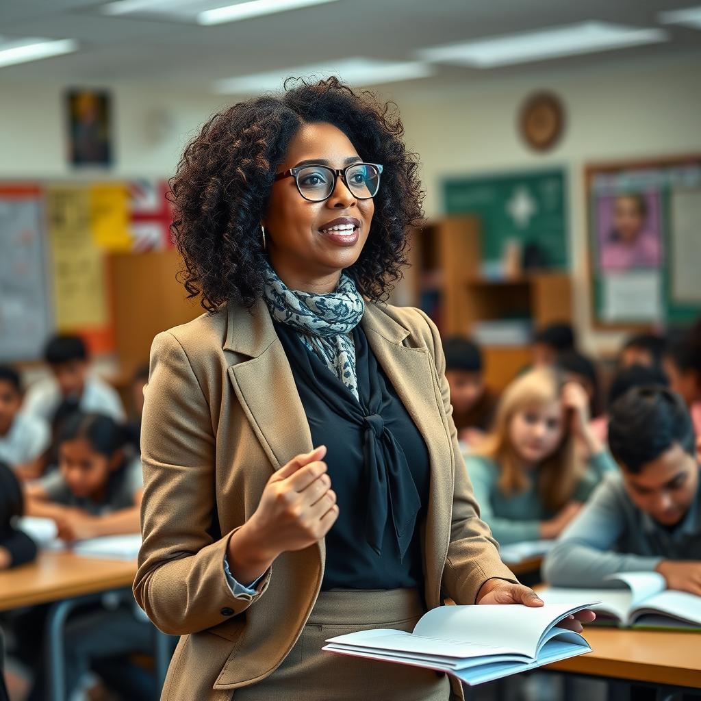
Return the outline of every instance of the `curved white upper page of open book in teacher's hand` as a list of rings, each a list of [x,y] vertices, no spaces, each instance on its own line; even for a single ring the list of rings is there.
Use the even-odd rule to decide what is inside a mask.
[[[574,599],[538,608],[512,605],[439,606],[425,613],[414,627],[414,635],[433,639],[472,640],[502,647],[536,658],[540,641],[554,622],[585,605]],[[575,600],[576,601],[576,600]],[[580,604],[592,601],[580,599]]]

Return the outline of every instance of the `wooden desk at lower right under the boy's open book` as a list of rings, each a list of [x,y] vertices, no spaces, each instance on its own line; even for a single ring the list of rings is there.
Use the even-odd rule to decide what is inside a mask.
[[[701,634],[586,626],[593,652],[547,669],[701,688]]]

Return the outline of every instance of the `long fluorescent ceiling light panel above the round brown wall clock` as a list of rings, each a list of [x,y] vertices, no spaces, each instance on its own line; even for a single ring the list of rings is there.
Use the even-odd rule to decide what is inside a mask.
[[[492,68],[559,56],[593,53],[626,46],[666,41],[663,29],[636,29],[607,22],[580,22],[576,25],[543,29],[538,32],[507,34],[491,39],[465,41],[418,50],[422,58],[477,68]]]

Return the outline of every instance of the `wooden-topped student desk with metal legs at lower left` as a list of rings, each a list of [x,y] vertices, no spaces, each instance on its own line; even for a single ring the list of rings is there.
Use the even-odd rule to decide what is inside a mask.
[[[64,701],[63,626],[73,608],[99,601],[102,594],[131,589],[134,561],[79,557],[72,552],[41,551],[31,564],[0,572],[0,611],[51,604],[46,621],[46,660],[50,701]],[[154,628],[154,657],[159,686],[168,669],[168,637]]]

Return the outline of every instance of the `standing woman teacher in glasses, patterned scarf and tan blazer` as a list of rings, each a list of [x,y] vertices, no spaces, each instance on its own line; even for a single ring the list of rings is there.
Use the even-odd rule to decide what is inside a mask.
[[[445,700],[434,672],[320,648],[443,594],[540,605],[477,516],[435,326],[381,304],[421,217],[402,132],[301,83],[213,116],[172,180],[208,313],[156,337],[145,393],[134,591],[183,636],[165,699]]]

